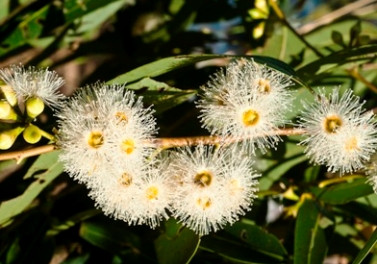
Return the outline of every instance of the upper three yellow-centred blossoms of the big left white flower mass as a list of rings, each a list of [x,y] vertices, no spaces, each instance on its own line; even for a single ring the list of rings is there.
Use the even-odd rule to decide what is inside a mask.
[[[151,152],[147,141],[156,132],[152,110],[122,86],[97,83],[79,89],[57,117],[65,170],[89,186],[93,174],[121,160],[129,170],[142,169]]]

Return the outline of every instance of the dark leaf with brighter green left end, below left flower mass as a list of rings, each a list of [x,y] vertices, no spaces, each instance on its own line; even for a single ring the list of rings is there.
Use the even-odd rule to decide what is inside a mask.
[[[127,249],[130,253],[139,251],[139,237],[128,231],[124,225],[99,221],[83,222],[79,233],[89,243],[111,253],[120,253]]]

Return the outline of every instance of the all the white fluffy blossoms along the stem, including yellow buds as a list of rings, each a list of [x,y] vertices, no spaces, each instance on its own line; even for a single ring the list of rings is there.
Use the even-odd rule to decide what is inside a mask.
[[[253,60],[230,63],[202,87],[197,103],[203,127],[221,138],[218,145],[165,151],[155,144],[154,111],[124,86],[96,83],[62,101],[63,81],[55,72],[12,66],[0,70],[0,77],[7,84],[1,86],[0,119],[20,118],[17,100],[26,108],[27,126],[12,133],[23,131],[25,140],[34,140],[28,135],[43,133],[30,120],[45,104],[59,109],[60,160],[106,215],[151,228],[173,216],[199,235],[232,224],[251,209],[260,177],[252,156],[276,147],[293,99],[283,73]],[[350,90],[326,96],[322,89],[315,99],[304,103],[299,116],[298,127],[307,134],[300,142],[305,153],[331,172],[365,168],[377,148],[373,113],[365,112]],[[15,140],[4,135],[3,149],[9,145],[4,142],[11,146]],[[376,190],[375,173],[370,176]]]

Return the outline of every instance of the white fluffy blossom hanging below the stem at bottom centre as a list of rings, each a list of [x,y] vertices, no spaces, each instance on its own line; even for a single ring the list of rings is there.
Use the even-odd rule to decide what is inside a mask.
[[[248,156],[199,145],[171,158],[168,174],[176,180],[173,216],[197,234],[232,224],[250,209],[259,175]]]

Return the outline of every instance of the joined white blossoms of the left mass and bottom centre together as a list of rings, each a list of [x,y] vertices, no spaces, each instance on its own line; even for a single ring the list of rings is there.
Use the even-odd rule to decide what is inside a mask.
[[[152,112],[124,87],[96,84],[78,90],[57,114],[60,159],[97,207],[152,228],[170,211],[200,235],[249,210],[258,177],[250,157],[200,145],[150,159]]]

